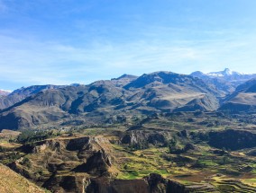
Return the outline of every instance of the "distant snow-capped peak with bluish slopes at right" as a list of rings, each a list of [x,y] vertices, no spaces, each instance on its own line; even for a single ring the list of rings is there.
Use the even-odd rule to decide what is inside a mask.
[[[191,74],[194,77],[198,77],[204,80],[206,83],[214,84],[222,93],[223,97],[234,92],[235,88],[245,83],[252,78],[256,78],[256,74],[246,75],[231,71],[225,68],[224,71],[212,72],[204,74],[200,71]]]

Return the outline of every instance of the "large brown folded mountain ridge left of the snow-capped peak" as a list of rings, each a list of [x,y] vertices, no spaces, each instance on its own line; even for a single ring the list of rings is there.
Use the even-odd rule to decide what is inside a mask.
[[[124,85],[125,84],[125,85]],[[134,113],[216,110],[221,94],[215,86],[189,75],[156,72],[138,78],[123,75],[110,81],[38,92],[1,111],[0,129],[62,124],[74,118],[89,123]]]

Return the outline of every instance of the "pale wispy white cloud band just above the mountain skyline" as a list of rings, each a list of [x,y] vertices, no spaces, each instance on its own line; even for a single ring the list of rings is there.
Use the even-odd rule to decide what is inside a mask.
[[[89,83],[123,73],[141,75],[169,70],[188,74],[196,69],[243,68],[254,64],[255,39],[196,40],[153,39],[124,44],[102,41],[76,47],[54,41],[0,36],[3,81],[16,83]],[[195,67],[196,66],[196,67]]]

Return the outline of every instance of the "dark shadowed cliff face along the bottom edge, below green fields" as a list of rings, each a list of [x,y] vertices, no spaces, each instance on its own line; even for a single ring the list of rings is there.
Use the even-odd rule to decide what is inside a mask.
[[[211,185],[185,187],[177,181],[164,179],[155,173],[139,180],[90,179],[85,187],[85,192],[88,193],[188,193],[196,191],[217,192]]]

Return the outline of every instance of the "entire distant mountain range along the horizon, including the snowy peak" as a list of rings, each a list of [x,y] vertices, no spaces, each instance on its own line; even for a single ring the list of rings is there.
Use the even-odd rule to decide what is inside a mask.
[[[111,123],[138,114],[173,111],[254,110],[253,78],[256,75],[226,68],[209,74],[155,72],[88,85],[30,86],[0,98],[0,130]],[[237,109],[238,105],[242,108]]]

